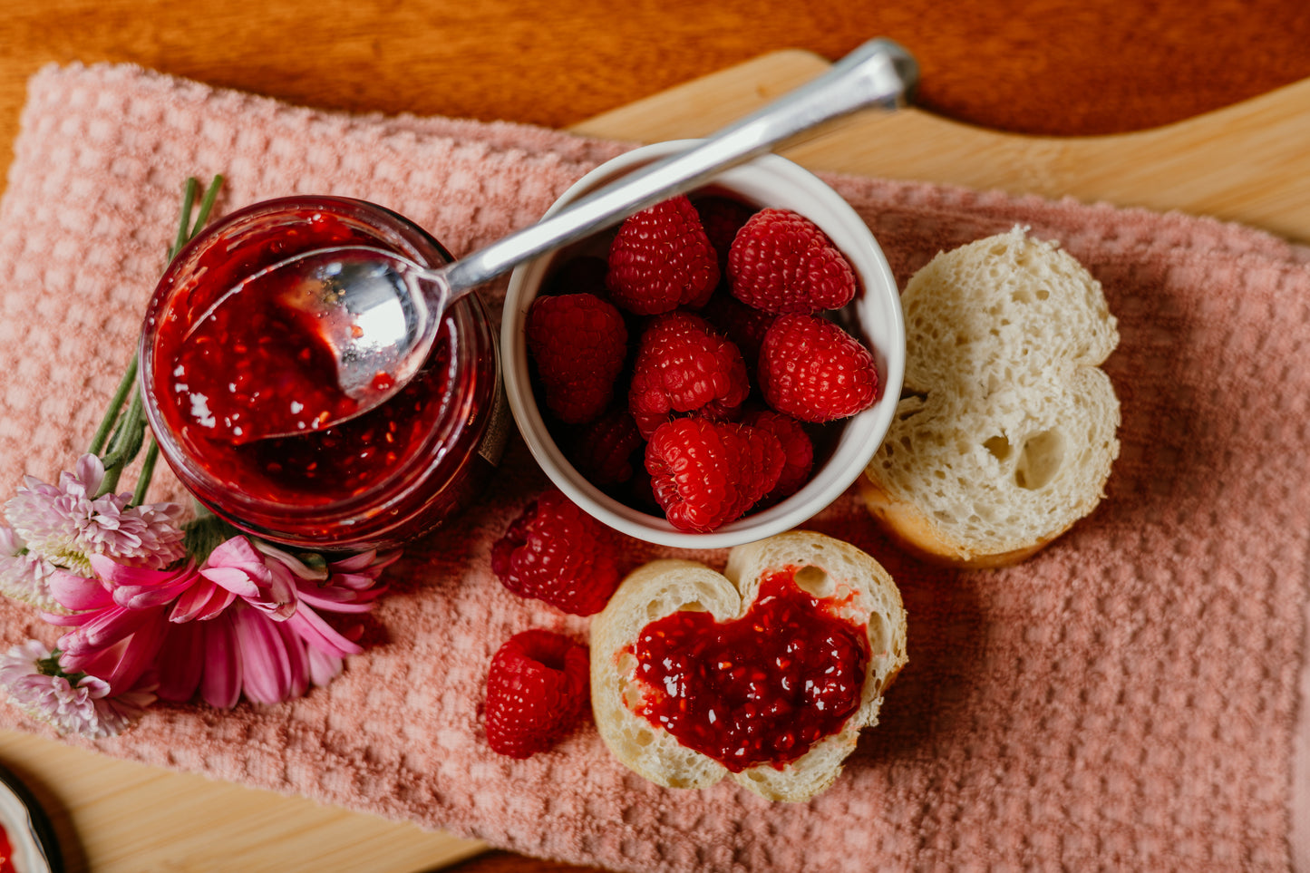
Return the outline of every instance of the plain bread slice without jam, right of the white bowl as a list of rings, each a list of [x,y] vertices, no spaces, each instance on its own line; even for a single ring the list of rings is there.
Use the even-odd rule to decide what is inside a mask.
[[[1119,455],[1100,283],[1017,227],[938,254],[901,305],[905,388],[865,501],[924,557],[1022,561],[1095,509]]]

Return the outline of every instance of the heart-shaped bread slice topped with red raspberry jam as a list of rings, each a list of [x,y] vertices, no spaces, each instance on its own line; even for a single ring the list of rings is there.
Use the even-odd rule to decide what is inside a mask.
[[[739,545],[722,574],[652,561],[592,619],[596,726],[659,785],[731,775],[768,800],[804,801],[878,722],[905,633],[891,575],[820,534]]]

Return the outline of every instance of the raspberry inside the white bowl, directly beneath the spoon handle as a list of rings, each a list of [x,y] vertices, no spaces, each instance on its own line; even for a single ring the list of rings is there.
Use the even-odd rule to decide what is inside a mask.
[[[714,246],[684,195],[630,216],[609,248],[609,296],[637,315],[702,307],[718,282]]]

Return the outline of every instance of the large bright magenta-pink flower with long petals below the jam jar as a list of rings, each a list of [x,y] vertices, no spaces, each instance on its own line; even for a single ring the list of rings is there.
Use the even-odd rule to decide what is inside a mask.
[[[312,569],[276,547],[245,536],[217,545],[200,566],[126,566],[92,554],[90,577],[59,570],[50,579],[69,628],[59,640],[64,671],[85,672],[110,689],[131,688],[156,669],[159,696],[196,692],[228,709],[244,693],[279,703],[326,684],[342,659],[360,651],[362,627],[346,632],[321,613],[367,612],[397,554],[375,552]]]

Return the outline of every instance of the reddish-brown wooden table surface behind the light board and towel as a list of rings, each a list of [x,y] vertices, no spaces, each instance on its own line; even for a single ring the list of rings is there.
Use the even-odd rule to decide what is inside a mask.
[[[51,62],[566,127],[774,48],[834,59],[875,35],[918,58],[921,107],[1023,134],[1144,130],[1310,77],[1303,0],[0,0],[0,166],[25,81]],[[451,869],[578,868],[493,852]]]

